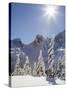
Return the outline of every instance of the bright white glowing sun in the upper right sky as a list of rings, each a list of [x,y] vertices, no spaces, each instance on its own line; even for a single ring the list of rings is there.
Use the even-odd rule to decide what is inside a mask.
[[[58,13],[56,6],[46,6],[44,11],[48,19],[55,18]]]

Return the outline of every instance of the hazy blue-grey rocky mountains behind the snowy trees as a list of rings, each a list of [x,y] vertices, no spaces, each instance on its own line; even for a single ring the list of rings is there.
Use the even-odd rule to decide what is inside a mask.
[[[55,36],[54,42],[54,51],[56,51],[59,48],[65,48],[65,31],[59,33]],[[48,45],[51,41],[51,38],[44,38],[42,35],[37,35],[35,40],[25,45],[21,42],[20,39],[14,39],[11,40],[11,47],[10,47],[10,53],[11,53],[11,73],[14,71],[15,65],[16,65],[16,53],[17,48],[21,49],[20,54],[20,66],[23,67],[23,64],[25,63],[25,57],[29,57],[29,62],[33,68],[34,62],[37,62],[37,58],[39,56],[40,50],[42,50],[42,55],[44,58],[45,67],[47,68],[48,63]],[[24,54],[22,53],[24,52]],[[56,57],[56,54],[55,54]],[[45,68],[45,69],[46,69]]]

